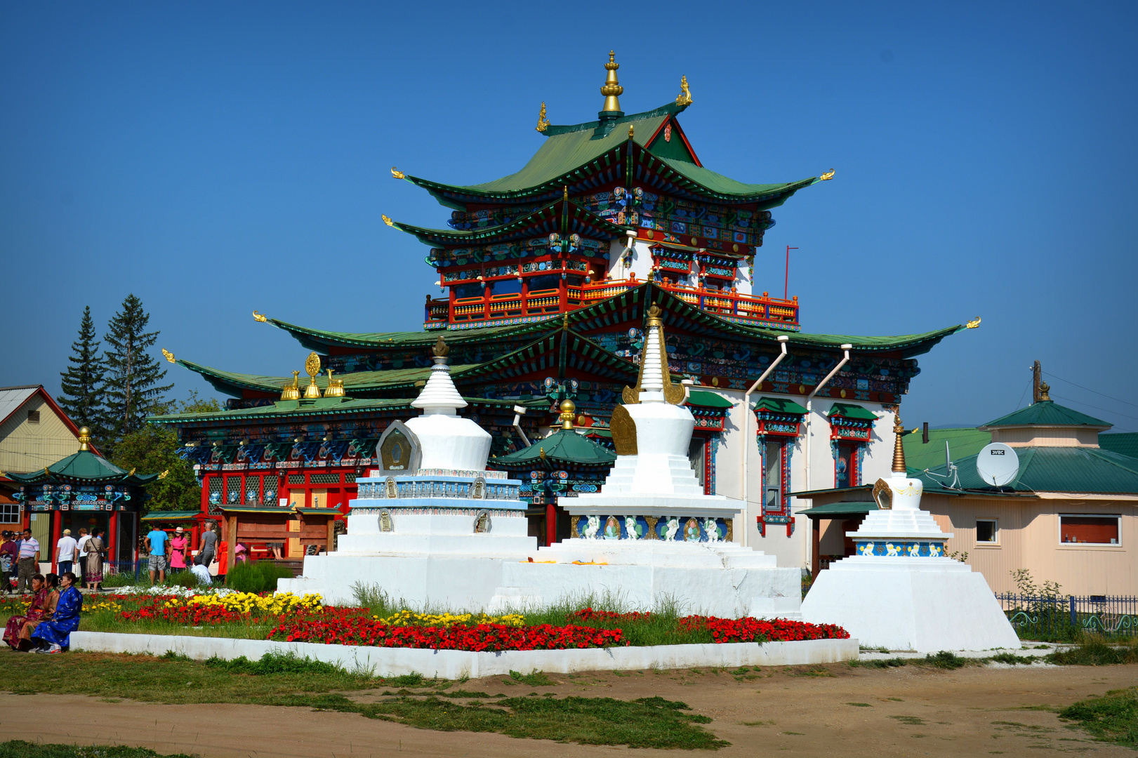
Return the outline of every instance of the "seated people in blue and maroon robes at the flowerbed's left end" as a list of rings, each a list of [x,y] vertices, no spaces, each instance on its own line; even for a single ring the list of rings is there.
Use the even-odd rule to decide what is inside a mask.
[[[13,652],[58,653],[79,628],[83,594],[75,587],[75,574],[34,574],[31,577],[32,602],[23,616],[13,616],[3,631],[3,641]]]

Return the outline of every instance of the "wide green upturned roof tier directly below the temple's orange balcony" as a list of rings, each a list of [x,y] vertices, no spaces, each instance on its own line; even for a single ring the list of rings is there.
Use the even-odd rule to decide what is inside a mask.
[[[551,315],[549,319],[530,323],[509,324],[502,327],[479,327],[473,329],[451,329],[444,332],[448,345],[478,344],[492,339],[501,339],[513,336],[537,335],[550,330],[551,322],[558,322],[568,316],[569,326],[578,332],[588,332],[593,329],[604,329],[611,326],[615,319],[624,321],[626,318],[642,318],[642,311],[652,303],[659,303],[665,311],[665,321],[668,327],[678,327],[696,335],[725,336],[744,338],[769,345],[777,345],[778,337],[787,332],[777,329],[764,329],[750,327],[743,323],[735,323],[720,319],[714,313],[700,311],[694,305],[685,303],[671,293],[657,287],[651,282],[644,282],[638,287],[627,289],[619,295],[615,295],[604,300],[599,300],[593,305],[569,311],[567,314]],[[627,314],[627,316],[621,315]],[[306,327],[297,327],[277,319],[269,319],[271,323],[287,330],[308,349],[323,349],[329,347],[355,347],[368,349],[427,348],[438,339],[439,331],[395,331],[395,332],[341,332],[321,331]],[[964,324],[956,324],[935,331],[927,331],[915,335],[897,335],[888,337],[857,337],[851,335],[810,335],[805,332],[790,333],[790,346],[813,347],[822,349],[840,349],[843,344],[852,344],[853,349],[861,353],[900,353],[901,357],[913,357],[927,353],[941,339],[965,329]],[[181,362],[181,361],[179,361]],[[352,374],[343,374],[346,379]],[[288,379],[291,382],[291,378]],[[318,384],[320,380],[316,380]],[[278,387],[279,389],[279,387]]]

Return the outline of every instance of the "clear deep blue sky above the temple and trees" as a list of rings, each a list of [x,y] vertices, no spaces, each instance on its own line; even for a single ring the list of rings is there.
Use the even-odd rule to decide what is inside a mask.
[[[907,425],[1030,402],[1138,430],[1135,3],[6,3],[0,8],[0,384],[58,392],[84,305],[127,293],[159,346],[286,376],[274,318],[413,330],[434,271],[380,214],[448,212],[389,167],[455,183],[519,168],[595,118],[616,49],[626,112],[670,101],[708,167],[836,170],[774,211],[803,330],[921,332]],[[175,394],[195,374],[170,366]],[[1073,382],[1073,384],[1072,384]],[[1081,388],[1079,386],[1081,386]],[[1096,394],[1099,393],[1099,394]],[[1119,398],[1119,399],[1113,399]],[[1122,402],[1120,402],[1122,401]]]

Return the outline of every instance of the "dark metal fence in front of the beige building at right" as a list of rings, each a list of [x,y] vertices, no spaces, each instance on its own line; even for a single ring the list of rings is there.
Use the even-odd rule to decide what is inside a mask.
[[[1072,640],[1089,633],[1138,635],[1138,598],[997,593],[1016,633],[1028,640]]]

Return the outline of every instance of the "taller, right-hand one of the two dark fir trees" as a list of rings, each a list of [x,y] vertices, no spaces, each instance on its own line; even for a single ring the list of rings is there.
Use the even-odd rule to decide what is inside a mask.
[[[157,331],[146,331],[150,314],[142,310],[142,300],[127,295],[123,310],[107,324],[104,340],[106,381],[104,397],[107,406],[107,427],[114,440],[138,431],[151,410],[163,402],[163,396],[174,385],[158,382],[166,378],[147,348],[158,341]]]

